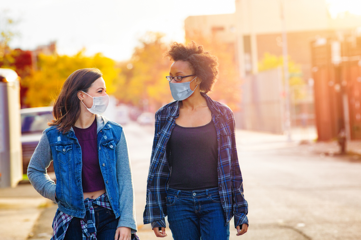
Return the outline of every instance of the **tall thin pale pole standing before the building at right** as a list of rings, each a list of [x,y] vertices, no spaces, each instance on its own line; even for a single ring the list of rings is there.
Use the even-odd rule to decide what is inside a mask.
[[[285,93],[285,123],[287,132],[287,141],[291,138],[291,113],[290,113],[290,82],[288,73],[288,51],[287,51],[287,32],[286,32],[286,16],[284,10],[284,0],[281,1],[281,20],[282,20],[282,54],[283,54],[283,76],[284,76],[284,93]]]

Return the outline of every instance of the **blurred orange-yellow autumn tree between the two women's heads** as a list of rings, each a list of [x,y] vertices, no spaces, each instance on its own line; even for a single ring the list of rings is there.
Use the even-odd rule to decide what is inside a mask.
[[[140,39],[130,61],[120,64],[121,80],[114,95],[124,103],[154,112],[164,104],[174,101],[169,83],[170,61],[163,58],[167,45],[164,34],[148,32]]]

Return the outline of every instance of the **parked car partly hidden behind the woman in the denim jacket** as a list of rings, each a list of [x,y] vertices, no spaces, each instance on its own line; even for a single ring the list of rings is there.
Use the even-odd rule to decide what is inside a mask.
[[[42,137],[42,132],[48,128],[48,122],[53,120],[53,107],[20,109],[21,116],[21,145],[23,156],[23,173],[27,172],[30,158]],[[53,172],[53,163],[47,169]]]

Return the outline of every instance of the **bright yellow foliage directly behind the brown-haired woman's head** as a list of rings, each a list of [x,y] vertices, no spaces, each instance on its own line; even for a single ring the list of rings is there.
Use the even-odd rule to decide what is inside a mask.
[[[25,103],[30,107],[51,105],[66,78],[81,68],[99,68],[103,72],[107,93],[112,94],[119,80],[116,62],[100,53],[90,57],[83,53],[84,49],[74,56],[39,55],[38,71],[21,80],[22,86],[28,88]]]

